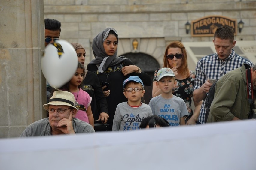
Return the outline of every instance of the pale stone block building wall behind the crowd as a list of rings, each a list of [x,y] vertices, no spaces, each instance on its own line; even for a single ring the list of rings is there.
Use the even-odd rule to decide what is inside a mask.
[[[81,43],[87,53],[86,63],[94,56],[93,38],[103,29],[117,30],[123,47],[118,55],[132,51],[134,38],[139,40],[138,50],[156,58],[163,64],[166,45],[172,40],[182,42],[211,41],[212,37],[191,37],[186,34],[185,23],[209,15],[242,19],[245,23],[237,40],[256,40],[256,2],[250,0],[44,0],[44,17],[62,23],[60,38]],[[127,41],[127,39],[130,39]],[[157,43],[142,44],[157,40]]]

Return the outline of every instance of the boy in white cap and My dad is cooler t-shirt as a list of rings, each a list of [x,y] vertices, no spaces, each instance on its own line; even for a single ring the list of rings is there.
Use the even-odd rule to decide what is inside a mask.
[[[176,83],[175,74],[172,69],[160,69],[157,72],[156,85],[160,88],[162,94],[153,97],[148,104],[153,115],[165,118],[170,126],[184,125],[184,116],[188,115],[184,100],[172,94],[172,88]]]

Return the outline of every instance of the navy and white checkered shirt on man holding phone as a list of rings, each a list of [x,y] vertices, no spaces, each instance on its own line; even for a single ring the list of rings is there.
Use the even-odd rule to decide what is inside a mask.
[[[194,90],[199,89],[206,82],[207,79],[220,79],[226,73],[241,67],[242,64],[244,63],[247,63],[251,67],[253,67],[253,63],[251,61],[240,57],[235,53],[233,49],[230,56],[228,56],[225,61],[220,60],[218,58],[217,53],[201,58],[197,62],[197,67],[196,67],[197,77],[195,79]],[[200,115],[199,115],[198,121],[201,124],[204,124],[204,117],[206,112],[205,101],[207,97],[208,97],[208,93],[206,94],[206,97],[204,98],[201,109],[200,109]]]

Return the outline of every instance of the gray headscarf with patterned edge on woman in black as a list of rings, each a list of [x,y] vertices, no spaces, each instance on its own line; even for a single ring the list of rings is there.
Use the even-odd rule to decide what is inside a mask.
[[[103,73],[108,66],[114,66],[123,60],[127,59],[124,56],[117,57],[117,50],[112,56],[108,56],[105,52],[103,43],[108,37],[109,31],[113,30],[115,34],[117,35],[117,44],[118,44],[118,34],[117,31],[114,28],[106,28],[104,31],[99,33],[94,39],[93,39],[93,55],[95,59],[93,59],[89,64],[100,64],[99,66],[99,73]]]

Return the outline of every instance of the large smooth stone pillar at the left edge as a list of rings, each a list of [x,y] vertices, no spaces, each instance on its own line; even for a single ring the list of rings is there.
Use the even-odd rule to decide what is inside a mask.
[[[46,116],[43,1],[0,1],[0,37],[0,138],[17,137]]]

